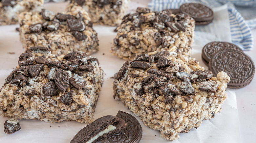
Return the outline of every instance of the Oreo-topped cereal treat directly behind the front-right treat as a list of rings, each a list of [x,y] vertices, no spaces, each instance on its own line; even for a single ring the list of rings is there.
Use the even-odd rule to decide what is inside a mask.
[[[178,56],[191,56],[194,42],[193,18],[167,9],[152,12],[137,8],[136,13],[123,17],[111,48],[113,55],[132,60],[142,53],[170,50]]]

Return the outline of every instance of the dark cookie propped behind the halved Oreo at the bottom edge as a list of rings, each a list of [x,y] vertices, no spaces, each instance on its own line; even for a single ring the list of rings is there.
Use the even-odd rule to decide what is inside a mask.
[[[131,114],[118,111],[117,117],[127,124],[120,133],[108,137],[105,143],[139,143],[142,137],[142,128],[139,121]]]

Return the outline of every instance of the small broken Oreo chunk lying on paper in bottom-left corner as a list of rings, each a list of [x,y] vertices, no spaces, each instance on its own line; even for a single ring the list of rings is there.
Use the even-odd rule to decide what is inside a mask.
[[[4,123],[4,132],[6,134],[12,134],[20,130],[20,122],[14,118],[6,120]]]

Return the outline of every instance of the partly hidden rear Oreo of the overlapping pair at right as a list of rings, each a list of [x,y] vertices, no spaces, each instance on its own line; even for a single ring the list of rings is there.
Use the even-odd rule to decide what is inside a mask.
[[[243,52],[237,45],[232,44],[232,43],[228,43],[228,42],[220,42],[220,41],[214,41],[214,42],[210,42],[208,44],[206,44],[203,47],[202,50],[202,58],[203,58],[203,62],[208,65],[211,56],[213,54],[215,54],[217,51],[222,50],[224,48],[235,48],[240,50],[241,52]]]

